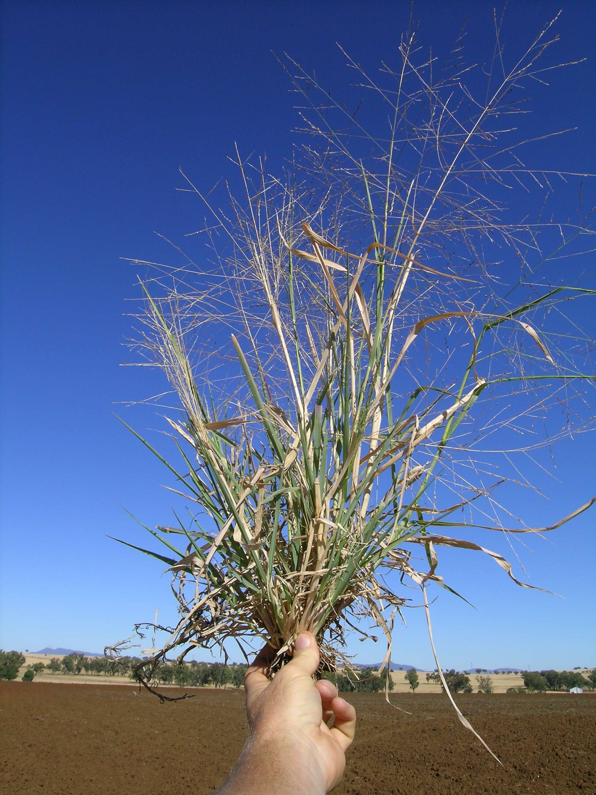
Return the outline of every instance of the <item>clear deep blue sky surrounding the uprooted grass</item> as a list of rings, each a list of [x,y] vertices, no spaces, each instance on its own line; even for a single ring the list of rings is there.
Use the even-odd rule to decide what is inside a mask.
[[[561,168],[594,172],[596,6],[566,2],[559,60],[590,56],[537,87],[537,126],[579,126],[554,149]],[[559,4],[512,2],[505,41],[521,48]],[[143,545],[167,523],[161,465],[114,418],[159,421],[117,401],[157,391],[123,368],[126,299],[135,273],[122,258],[160,260],[201,223],[179,165],[211,187],[229,173],[234,142],[281,164],[296,122],[284,50],[323,82],[344,79],[339,41],[357,60],[391,61],[409,2],[5,2],[2,9],[2,561],[0,646],[101,651],[157,608],[172,617],[160,564],[106,534]],[[492,48],[490,2],[416,3],[422,41],[451,42],[468,14],[468,60]],[[547,101],[548,97],[548,101]],[[553,149],[550,150],[551,153]],[[548,165],[550,164],[542,164]],[[571,211],[573,208],[571,208]],[[196,252],[195,252],[196,253]],[[594,270],[594,269],[592,269]],[[157,435],[153,436],[157,439]],[[513,507],[548,524],[596,494],[594,439],[555,452],[550,500]],[[541,478],[540,473],[536,478]],[[443,553],[443,573],[478,608],[440,591],[435,642],[447,667],[596,665],[596,510],[521,550],[521,590],[492,561]],[[503,540],[493,545],[508,553]],[[465,564],[461,562],[465,556]],[[517,568],[520,571],[519,566]],[[433,668],[421,611],[394,632],[393,659]],[[352,646],[361,661],[381,648]]]

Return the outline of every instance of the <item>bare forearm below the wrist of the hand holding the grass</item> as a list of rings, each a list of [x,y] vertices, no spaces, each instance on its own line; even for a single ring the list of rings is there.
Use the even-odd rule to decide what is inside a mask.
[[[319,766],[305,765],[292,744],[251,737],[234,770],[214,795],[325,795]]]

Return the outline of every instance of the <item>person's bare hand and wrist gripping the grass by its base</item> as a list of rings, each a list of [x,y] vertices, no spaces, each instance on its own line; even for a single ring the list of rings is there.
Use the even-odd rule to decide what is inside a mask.
[[[315,636],[301,633],[292,660],[269,680],[265,671],[274,655],[265,646],[246,672],[251,737],[219,795],[324,795],[342,778],[356,711],[335,684],[312,679],[319,667]]]

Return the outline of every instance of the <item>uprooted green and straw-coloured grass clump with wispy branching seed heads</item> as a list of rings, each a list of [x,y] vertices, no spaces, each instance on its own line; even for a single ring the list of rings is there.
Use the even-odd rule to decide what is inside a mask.
[[[172,572],[180,620],[139,667],[144,684],[171,650],[181,659],[229,638],[273,646],[273,674],[300,630],[335,670],[350,665],[345,634],[366,634],[362,619],[387,639],[381,673],[410,601],[405,581],[422,591],[429,632],[428,585],[452,590],[437,572],[441,546],[487,553],[532,587],[500,553],[458,536],[551,529],[490,521],[507,478],[479,440],[501,432],[510,455],[551,444],[557,433],[545,431],[508,447],[512,429],[536,434],[561,394],[583,399],[594,379],[585,337],[570,345],[568,328],[540,328],[561,301],[594,290],[515,284],[490,261],[513,253],[536,270],[548,259],[540,225],[506,218],[505,187],[537,177],[500,143],[516,92],[540,72],[547,29],[509,73],[491,70],[489,99],[471,109],[459,42],[431,79],[432,61],[416,64],[405,38],[401,68],[384,70],[390,88],[350,61],[389,111],[383,135],[321,89],[322,107],[314,77],[293,64],[314,142],[300,165],[280,180],[238,156],[245,199],[230,194],[230,218],[205,199],[215,262],[153,266],[142,282],[140,349],[177,397],[167,421],[180,467],[135,434],[192,506],[175,526],[146,528],[167,548],[142,551]],[[346,118],[339,131],[334,112]],[[559,228],[563,244],[588,234]]]

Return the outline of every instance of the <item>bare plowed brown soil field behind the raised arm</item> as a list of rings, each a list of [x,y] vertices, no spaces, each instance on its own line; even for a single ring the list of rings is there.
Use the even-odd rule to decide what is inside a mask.
[[[211,793],[246,737],[242,692],[160,704],[137,688],[0,682],[2,793]],[[357,694],[358,735],[337,795],[596,792],[596,696]]]

